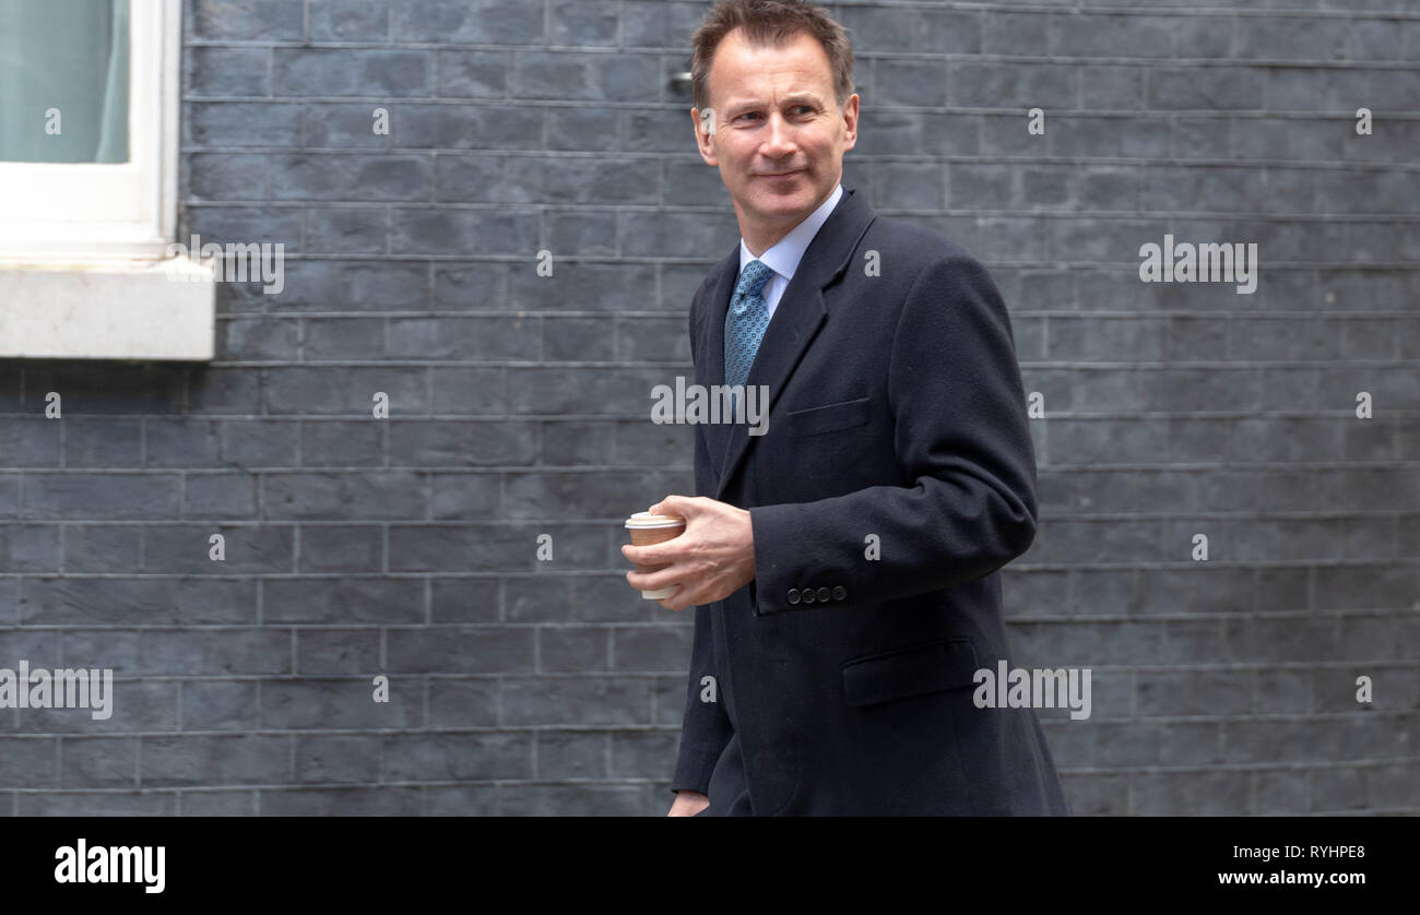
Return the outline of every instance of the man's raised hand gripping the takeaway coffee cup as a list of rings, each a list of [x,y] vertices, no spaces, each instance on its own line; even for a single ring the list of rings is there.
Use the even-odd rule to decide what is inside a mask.
[[[653,592],[679,584],[660,601],[667,610],[724,600],[754,580],[754,526],[750,512],[703,495],[667,495],[650,511],[686,519],[686,531],[673,540],[650,546],[622,546],[622,556],[638,566],[666,566],[655,572],[628,572],[632,587]]]

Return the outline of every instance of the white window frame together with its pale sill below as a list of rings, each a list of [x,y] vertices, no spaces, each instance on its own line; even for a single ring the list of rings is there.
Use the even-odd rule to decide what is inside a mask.
[[[0,359],[213,359],[214,270],[168,255],[182,0],[131,0],[129,35],[126,163],[0,163]]]

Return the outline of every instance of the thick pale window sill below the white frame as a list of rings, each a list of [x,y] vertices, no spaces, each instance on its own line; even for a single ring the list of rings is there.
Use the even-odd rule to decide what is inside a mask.
[[[214,356],[210,265],[166,260],[0,260],[0,359]]]

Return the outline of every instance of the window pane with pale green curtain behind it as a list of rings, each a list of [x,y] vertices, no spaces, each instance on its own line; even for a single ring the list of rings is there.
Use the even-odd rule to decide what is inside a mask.
[[[128,0],[0,0],[0,162],[128,162]]]

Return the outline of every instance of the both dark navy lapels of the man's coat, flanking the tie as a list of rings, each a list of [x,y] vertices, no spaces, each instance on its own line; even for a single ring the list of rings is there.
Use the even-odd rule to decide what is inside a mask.
[[[876,218],[868,201],[856,190],[845,187],[838,206],[824,220],[814,240],[804,251],[804,258],[794,271],[794,278],[784,289],[780,304],[774,308],[770,326],[764,331],[760,349],[750,366],[746,384],[767,384],[768,403],[760,404],[767,416],[778,401],[784,387],[798,366],[804,350],[814,340],[819,326],[826,319],[824,309],[824,287],[832,282],[848,267],[858,240]],[[710,308],[700,328],[700,352],[706,353],[704,372],[697,372],[697,383],[709,389],[724,384],[724,318],[730,311],[730,295],[740,277],[740,245],[734,245],[720,262]],[[750,436],[746,423],[711,423],[706,428],[706,444],[710,461],[720,467],[714,498],[724,495],[730,478],[744,458],[750,445],[763,436]],[[723,455],[723,458],[721,458]]]

